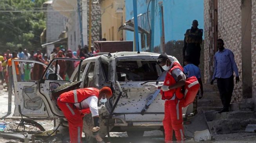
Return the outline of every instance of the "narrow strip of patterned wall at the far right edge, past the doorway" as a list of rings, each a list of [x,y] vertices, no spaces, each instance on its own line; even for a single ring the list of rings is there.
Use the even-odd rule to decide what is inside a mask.
[[[252,97],[256,105],[256,0],[252,0]]]

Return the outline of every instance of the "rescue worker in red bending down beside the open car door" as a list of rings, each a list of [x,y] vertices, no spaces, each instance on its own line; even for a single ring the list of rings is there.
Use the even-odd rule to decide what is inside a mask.
[[[109,87],[97,88],[82,88],[62,93],[57,100],[57,104],[64,113],[64,116],[69,122],[69,136],[71,143],[81,143],[82,127],[84,113],[81,111],[91,111],[94,127],[92,129],[98,143],[104,143],[103,139],[98,134],[100,130],[98,100],[109,99],[112,97],[112,91]],[[88,112],[87,112],[88,113]]]

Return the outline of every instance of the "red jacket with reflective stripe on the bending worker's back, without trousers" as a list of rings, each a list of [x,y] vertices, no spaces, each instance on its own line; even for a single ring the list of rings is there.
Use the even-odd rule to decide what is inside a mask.
[[[60,95],[60,102],[64,103],[80,103],[88,97],[96,96],[99,98],[100,90],[97,88],[81,88],[71,90]]]

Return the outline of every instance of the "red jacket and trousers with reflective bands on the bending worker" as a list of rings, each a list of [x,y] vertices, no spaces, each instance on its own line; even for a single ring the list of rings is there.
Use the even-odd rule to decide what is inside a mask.
[[[99,93],[99,89],[96,88],[82,88],[62,93],[58,98],[57,104],[69,122],[71,143],[81,143],[84,117],[84,114],[74,106],[74,103],[81,103],[91,96],[99,98]]]

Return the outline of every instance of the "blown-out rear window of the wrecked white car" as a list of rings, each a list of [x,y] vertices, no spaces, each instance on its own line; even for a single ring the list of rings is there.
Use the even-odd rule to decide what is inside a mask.
[[[116,76],[118,81],[149,81],[157,80],[162,74],[156,61],[118,61]]]

